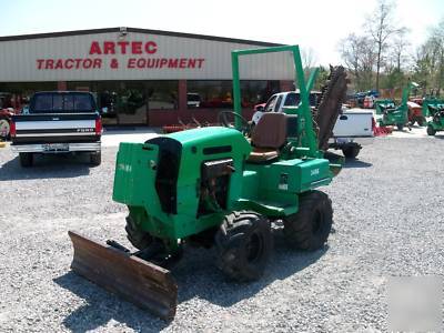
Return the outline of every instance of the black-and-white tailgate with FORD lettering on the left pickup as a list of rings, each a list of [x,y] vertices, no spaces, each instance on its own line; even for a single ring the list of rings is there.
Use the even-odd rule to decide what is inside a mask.
[[[13,144],[99,141],[97,113],[41,113],[13,115]]]

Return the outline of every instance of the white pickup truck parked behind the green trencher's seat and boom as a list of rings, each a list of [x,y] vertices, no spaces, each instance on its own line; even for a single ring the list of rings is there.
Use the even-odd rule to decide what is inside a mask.
[[[321,92],[310,93],[310,105],[314,108]],[[287,91],[273,94],[264,105],[256,105],[252,118],[254,127],[265,112],[282,112],[284,107],[297,107],[300,104],[299,91]],[[341,149],[349,159],[354,159],[363,144],[373,141],[373,111],[364,109],[343,109],[337,118],[333,137],[329,140],[329,147]]]

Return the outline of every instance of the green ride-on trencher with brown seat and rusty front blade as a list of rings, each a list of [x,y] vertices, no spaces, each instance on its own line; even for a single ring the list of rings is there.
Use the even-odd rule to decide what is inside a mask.
[[[239,58],[291,52],[301,104],[265,114],[250,139],[241,115]],[[259,279],[272,250],[271,225],[283,221],[290,248],[326,242],[333,219],[327,185],[341,165],[319,150],[297,46],[232,52],[235,127],[208,127],[121,143],[113,200],[128,205],[128,239],[135,253],[69,232],[74,272],[163,319],[175,314],[178,287],[165,269],[183,248],[215,246],[230,279]],[[339,101],[341,105],[342,101]],[[340,108],[339,108],[340,109]],[[225,111],[226,112],[226,111]]]

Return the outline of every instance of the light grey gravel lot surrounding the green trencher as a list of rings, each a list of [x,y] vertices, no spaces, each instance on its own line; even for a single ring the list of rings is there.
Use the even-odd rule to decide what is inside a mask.
[[[213,251],[189,251],[165,323],[69,270],[69,229],[128,245],[125,208],[111,201],[115,151],[98,168],[50,158],[24,170],[0,149],[1,332],[385,331],[387,276],[443,274],[444,141],[377,139],[325,189],[335,233],[324,250],[287,251],[278,234],[251,284],[225,282]]]

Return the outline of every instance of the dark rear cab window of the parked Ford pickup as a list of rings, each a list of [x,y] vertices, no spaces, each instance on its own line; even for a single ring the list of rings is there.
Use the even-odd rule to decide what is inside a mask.
[[[31,113],[94,112],[95,103],[89,93],[38,93],[30,105]]]

